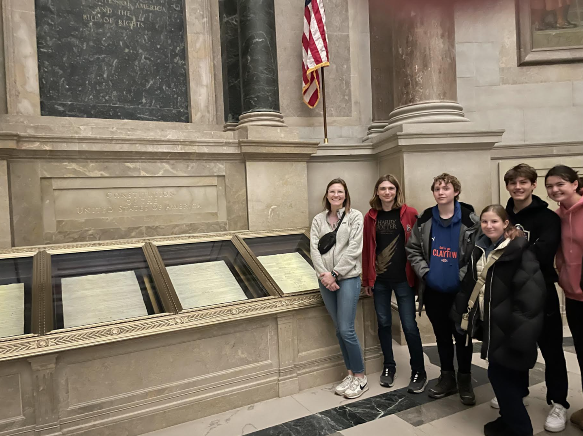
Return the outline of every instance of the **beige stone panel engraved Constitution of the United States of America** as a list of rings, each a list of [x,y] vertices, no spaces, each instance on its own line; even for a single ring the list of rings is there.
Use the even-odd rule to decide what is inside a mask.
[[[58,220],[217,212],[216,186],[55,189]]]

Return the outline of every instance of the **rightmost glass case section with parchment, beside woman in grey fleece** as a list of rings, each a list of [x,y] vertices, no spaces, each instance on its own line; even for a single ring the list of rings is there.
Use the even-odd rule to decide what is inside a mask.
[[[282,295],[318,290],[307,232],[241,238]]]

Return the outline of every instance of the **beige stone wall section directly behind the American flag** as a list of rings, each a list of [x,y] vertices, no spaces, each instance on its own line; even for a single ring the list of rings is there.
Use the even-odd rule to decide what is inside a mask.
[[[325,68],[331,138],[363,138],[372,119],[367,0],[325,3],[330,64]],[[275,0],[279,98],[286,124],[300,137],[322,139],[322,105],[311,110],[301,100],[301,35],[304,3]]]

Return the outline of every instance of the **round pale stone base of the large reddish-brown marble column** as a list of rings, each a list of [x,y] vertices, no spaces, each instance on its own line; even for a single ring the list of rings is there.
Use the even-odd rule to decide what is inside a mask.
[[[384,131],[409,123],[469,121],[463,115],[461,104],[455,101],[431,101],[430,103],[415,103],[396,108],[391,112],[388,125],[385,126]]]

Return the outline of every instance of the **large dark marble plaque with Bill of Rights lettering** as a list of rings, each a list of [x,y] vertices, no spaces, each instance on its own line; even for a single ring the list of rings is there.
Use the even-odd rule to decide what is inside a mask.
[[[182,0],[35,0],[41,114],[188,122]]]

